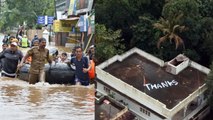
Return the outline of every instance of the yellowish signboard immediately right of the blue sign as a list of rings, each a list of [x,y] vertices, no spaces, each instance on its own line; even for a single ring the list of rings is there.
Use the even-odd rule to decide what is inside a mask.
[[[76,20],[54,20],[53,31],[54,32],[71,32],[75,27],[78,19]]]

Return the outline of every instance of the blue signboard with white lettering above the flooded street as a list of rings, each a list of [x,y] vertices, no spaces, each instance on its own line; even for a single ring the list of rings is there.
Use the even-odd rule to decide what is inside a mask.
[[[53,24],[54,16],[38,16],[37,24]]]

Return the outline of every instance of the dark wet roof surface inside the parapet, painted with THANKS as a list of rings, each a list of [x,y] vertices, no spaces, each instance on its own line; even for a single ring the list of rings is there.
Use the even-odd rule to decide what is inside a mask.
[[[204,84],[206,74],[192,67],[187,67],[178,75],[168,73],[165,69],[138,54],[133,54],[104,70],[159,100],[169,109]]]

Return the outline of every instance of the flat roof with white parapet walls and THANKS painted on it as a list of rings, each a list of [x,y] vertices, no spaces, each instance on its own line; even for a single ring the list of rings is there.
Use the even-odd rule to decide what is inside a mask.
[[[183,64],[173,66],[181,68]],[[174,74],[167,71],[167,63],[137,48],[96,67],[98,79],[160,115],[171,117],[206,90],[204,80],[210,70],[188,60]]]

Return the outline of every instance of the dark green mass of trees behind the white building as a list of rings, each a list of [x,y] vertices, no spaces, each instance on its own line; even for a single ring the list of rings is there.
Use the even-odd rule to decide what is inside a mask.
[[[212,0],[96,0],[95,9],[96,22],[106,26],[103,31],[98,32],[104,36],[107,28],[121,30],[121,38],[124,41],[119,43],[127,49],[138,47],[164,60],[171,60],[184,53],[193,61],[207,67],[213,61]],[[153,28],[152,25],[157,21],[161,23],[160,17],[169,22],[168,29]],[[185,26],[185,31],[178,29],[181,26]],[[175,49],[176,42],[173,40],[162,43],[157,49],[157,41],[165,36],[168,30],[182,39],[185,49]],[[103,39],[102,36],[96,40],[100,39]],[[103,47],[108,43],[99,45]],[[113,47],[104,51],[108,54],[115,52]]]

